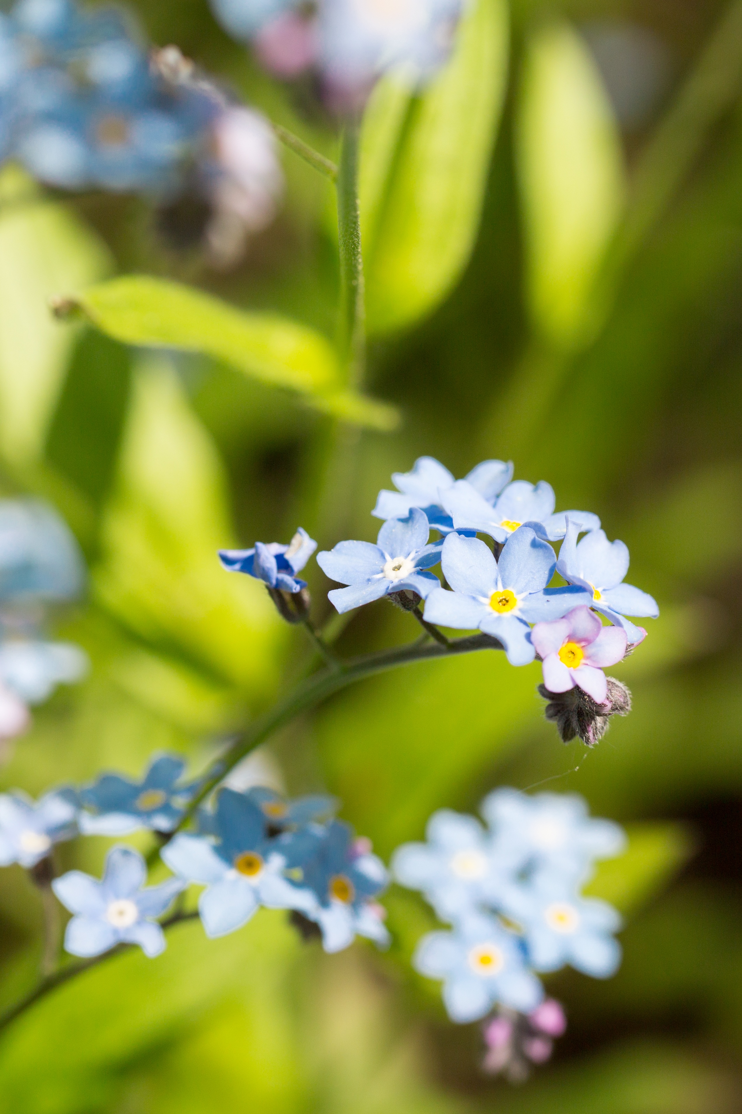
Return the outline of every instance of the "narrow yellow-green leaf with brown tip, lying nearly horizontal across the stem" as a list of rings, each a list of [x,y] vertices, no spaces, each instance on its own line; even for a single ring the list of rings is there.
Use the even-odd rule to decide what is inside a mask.
[[[204,352],[355,424],[390,429],[392,407],[340,389],[338,362],[320,333],[275,313],[246,313],[180,283],[125,275],[65,303],[127,344]]]

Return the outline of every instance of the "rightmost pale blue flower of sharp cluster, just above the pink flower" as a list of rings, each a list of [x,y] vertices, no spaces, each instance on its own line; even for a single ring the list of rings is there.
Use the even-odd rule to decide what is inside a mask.
[[[623,584],[629,571],[629,549],[623,541],[609,541],[604,530],[591,530],[582,541],[577,541],[584,527],[572,521],[572,511],[568,511],[568,519],[557,573],[570,584],[586,588],[592,595],[590,606],[622,626],[630,643],[641,642],[646,632],[624,616],[655,619],[660,608],[646,592]]]

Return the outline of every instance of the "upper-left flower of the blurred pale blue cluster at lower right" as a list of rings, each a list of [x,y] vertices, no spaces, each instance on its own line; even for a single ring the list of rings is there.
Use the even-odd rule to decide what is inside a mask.
[[[477,906],[496,905],[512,878],[492,854],[492,836],[482,824],[441,809],[425,833],[426,843],[404,843],[394,852],[395,879],[422,890],[442,920],[456,921]]]

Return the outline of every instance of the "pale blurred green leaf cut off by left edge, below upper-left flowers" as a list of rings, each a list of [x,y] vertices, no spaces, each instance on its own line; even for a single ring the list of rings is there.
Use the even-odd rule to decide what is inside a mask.
[[[71,209],[49,202],[16,167],[0,176],[0,443],[34,461],[63,382],[75,334],[49,314],[57,291],[102,277],[110,260]]]

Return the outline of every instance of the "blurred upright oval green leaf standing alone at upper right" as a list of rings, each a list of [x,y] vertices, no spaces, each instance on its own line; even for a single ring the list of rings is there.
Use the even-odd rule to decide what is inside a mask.
[[[568,26],[527,46],[516,116],[527,299],[536,329],[578,346],[600,320],[595,280],[621,214],[621,139],[603,84]]]

